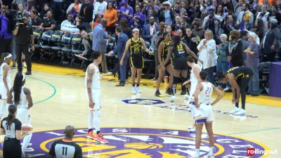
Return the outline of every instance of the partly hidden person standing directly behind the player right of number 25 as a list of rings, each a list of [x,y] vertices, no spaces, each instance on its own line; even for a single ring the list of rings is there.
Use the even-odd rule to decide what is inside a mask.
[[[158,59],[158,49],[157,49],[157,41],[160,37],[162,37],[163,33],[164,33],[164,29],[165,29],[165,24],[164,22],[159,22],[159,31],[156,32],[152,39],[151,39],[151,52],[153,55],[155,55],[155,77],[153,79],[151,79],[151,81],[157,81],[158,77],[159,77],[159,72],[158,72],[158,68],[157,66],[159,65],[159,60]]]

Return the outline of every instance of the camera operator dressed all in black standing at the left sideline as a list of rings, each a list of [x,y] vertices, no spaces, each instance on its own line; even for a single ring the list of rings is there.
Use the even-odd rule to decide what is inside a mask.
[[[13,34],[16,37],[15,41],[15,54],[17,55],[18,72],[22,72],[22,53],[25,54],[25,62],[27,63],[26,75],[31,74],[31,59],[28,48],[30,41],[32,43],[32,51],[34,51],[34,37],[32,25],[28,24],[30,20],[29,13],[23,13],[23,23],[17,22]]]

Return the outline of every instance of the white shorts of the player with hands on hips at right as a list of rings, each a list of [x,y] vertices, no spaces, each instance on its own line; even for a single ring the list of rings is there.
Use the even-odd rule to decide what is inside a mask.
[[[204,124],[204,123],[213,122],[214,113],[211,104],[202,103],[198,109],[195,108],[193,119],[195,124]]]

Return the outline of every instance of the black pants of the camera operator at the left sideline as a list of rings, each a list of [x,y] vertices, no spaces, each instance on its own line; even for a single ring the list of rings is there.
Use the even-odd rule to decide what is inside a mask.
[[[22,72],[22,53],[25,55],[25,62],[27,63],[27,71],[31,72],[31,59],[28,52],[28,44],[17,44],[15,46],[15,54],[17,55],[18,71]]]

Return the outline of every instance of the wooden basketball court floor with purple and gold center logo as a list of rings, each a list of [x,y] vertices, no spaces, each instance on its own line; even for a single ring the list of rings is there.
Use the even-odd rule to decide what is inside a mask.
[[[25,152],[27,157],[47,157],[51,144],[63,138],[67,125],[77,129],[74,142],[81,146],[84,157],[181,158],[195,153],[195,133],[187,129],[192,125],[188,105],[179,93],[176,102],[170,104],[170,96],[164,93],[167,84],[162,84],[163,98],[154,96],[156,82],[148,79],[142,80],[142,93],[132,95],[131,84],[115,87],[117,78],[104,76],[100,126],[110,143],[100,145],[84,138],[89,114],[84,93],[85,72],[39,64],[33,64],[32,70],[25,84],[34,102],[30,109],[34,133]],[[11,70],[12,80],[15,73],[16,70]],[[280,158],[281,99],[247,96],[247,116],[237,117],[228,113],[234,107],[230,98],[231,93],[226,93],[213,107],[215,156],[244,158],[250,147],[256,150],[252,157]],[[207,134],[202,138],[201,157],[209,151]],[[263,150],[277,150],[277,154],[257,153]]]

